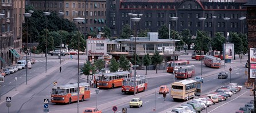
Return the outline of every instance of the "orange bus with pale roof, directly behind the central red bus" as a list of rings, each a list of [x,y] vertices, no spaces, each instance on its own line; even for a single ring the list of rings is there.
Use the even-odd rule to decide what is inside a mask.
[[[114,88],[122,86],[122,81],[130,76],[130,72],[111,72],[98,76],[97,87],[99,88]]]

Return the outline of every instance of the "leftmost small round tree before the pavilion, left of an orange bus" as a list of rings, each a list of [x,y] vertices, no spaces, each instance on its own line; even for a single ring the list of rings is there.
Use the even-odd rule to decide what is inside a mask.
[[[84,75],[87,75],[87,83],[89,83],[89,75],[93,75],[96,73],[96,68],[95,66],[92,66],[90,61],[87,61],[86,63],[84,63],[84,66],[80,68],[81,72],[83,72]],[[90,71],[92,72],[90,74]]]

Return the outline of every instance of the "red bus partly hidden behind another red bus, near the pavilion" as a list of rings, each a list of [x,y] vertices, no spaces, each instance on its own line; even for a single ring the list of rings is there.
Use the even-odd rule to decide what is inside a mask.
[[[185,66],[189,64],[189,60],[175,60],[174,66],[178,68],[179,66]],[[166,63],[166,72],[173,73],[173,61],[169,61]]]

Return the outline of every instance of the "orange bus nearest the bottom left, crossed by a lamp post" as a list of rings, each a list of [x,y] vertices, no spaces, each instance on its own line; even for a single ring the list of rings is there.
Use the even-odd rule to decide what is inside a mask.
[[[90,85],[88,83],[79,83],[79,100],[90,98]],[[77,101],[77,83],[64,84],[52,87],[52,103],[68,103]]]

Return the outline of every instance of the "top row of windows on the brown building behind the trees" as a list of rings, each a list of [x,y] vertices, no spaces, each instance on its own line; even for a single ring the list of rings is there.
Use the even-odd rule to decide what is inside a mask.
[[[31,3],[32,6],[34,7],[45,7],[45,3]],[[58,3],[46,3],[46,7],[49,7],[49,8],[63,8],[63,3],[59,3],[59,6],[58,6]],[[72,8],[85,8],[88,9],[89,8],[89,3],[77,3],[77,6],[76,6],[76,3],[72,3]],[[69,3],[65,3],[65,8],[69,8]],[[106,3],[90,3],[90,9],[106,9]]]

